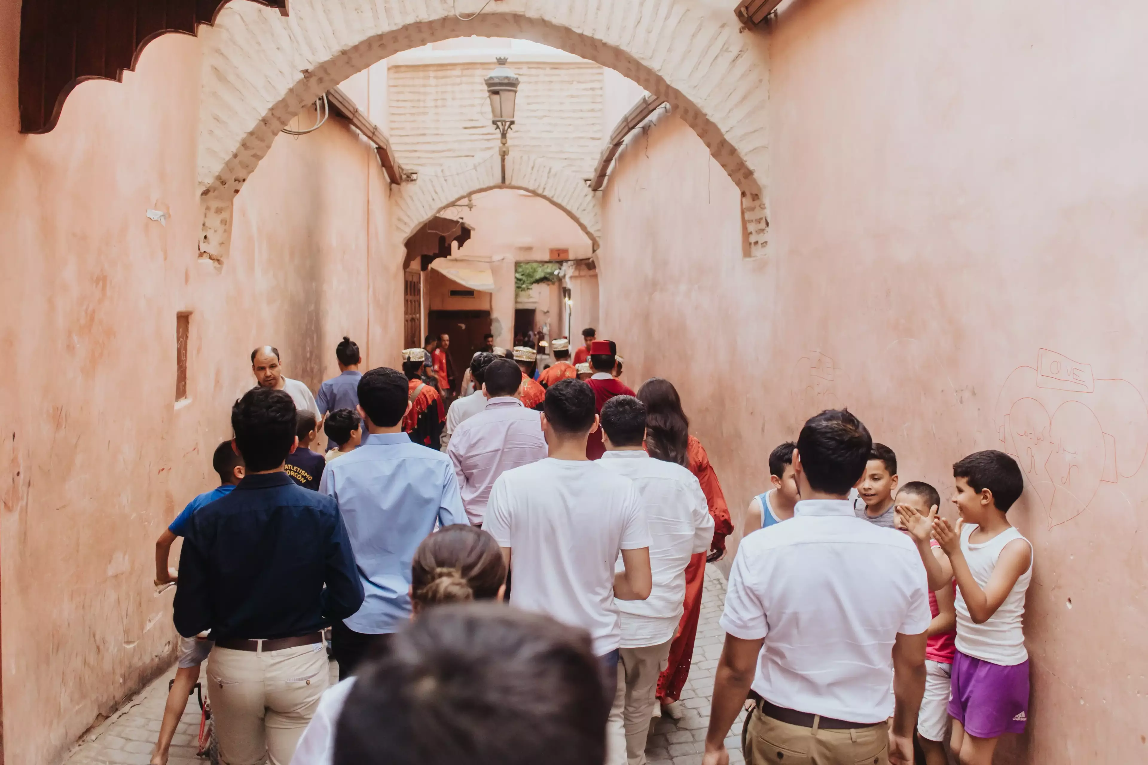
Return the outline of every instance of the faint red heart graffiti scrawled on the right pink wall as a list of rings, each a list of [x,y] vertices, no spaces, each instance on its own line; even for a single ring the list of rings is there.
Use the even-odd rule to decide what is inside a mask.
[[[1035,367],[1006,378],[993,424],[1049,529],[1088,509],[1101,483],[1135,475],[1148,454],[1148,405],[1135,385],[1095,377],[1092,365],[1044,348]]]

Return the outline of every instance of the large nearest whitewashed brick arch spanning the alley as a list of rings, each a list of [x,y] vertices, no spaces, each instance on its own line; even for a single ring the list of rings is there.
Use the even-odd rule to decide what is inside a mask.
[[[459,10],[478,8],[460,1]],[[608,67],[665,97],[744,193],[751,251],[766,248],[768,56],[704,0],[498,0],[472,21],[452,0],[290,0],[289,15],[228,5],[201,32],[200,249],[224,257],[234,195],[279,131],[355,72],[471,34],[529,39]]]

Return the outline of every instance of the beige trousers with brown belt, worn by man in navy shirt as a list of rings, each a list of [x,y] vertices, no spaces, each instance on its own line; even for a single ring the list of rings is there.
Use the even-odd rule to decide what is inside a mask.
[[[329,678],[323,643],[258,653],[216,646],[207,685],[219,759],[288,765]]]

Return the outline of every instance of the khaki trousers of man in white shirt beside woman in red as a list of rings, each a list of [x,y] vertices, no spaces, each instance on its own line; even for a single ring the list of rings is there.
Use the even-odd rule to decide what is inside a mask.
[[[645,765],[650,719],[658,703],[658,676],[666,669],[672,642],[619,650],[618,690],[606,723],[606,760],[611,765]]]

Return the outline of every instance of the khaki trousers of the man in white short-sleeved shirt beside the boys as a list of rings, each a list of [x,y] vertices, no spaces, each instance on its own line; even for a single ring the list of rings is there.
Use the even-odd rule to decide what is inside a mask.
[[[743,754],[746,765],[889,765],[889,723],[822,731],[754,709]]]

